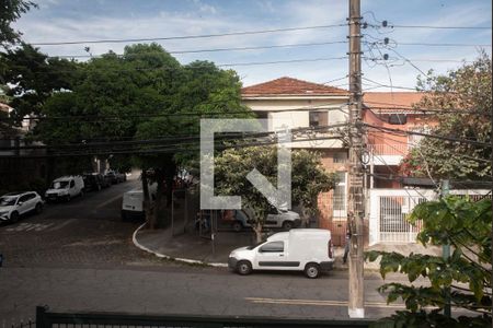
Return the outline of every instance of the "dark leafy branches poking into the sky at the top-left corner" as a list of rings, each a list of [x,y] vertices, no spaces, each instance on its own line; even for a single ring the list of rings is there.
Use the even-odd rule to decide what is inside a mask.
[[[0,47],[7,48],[21,39],[21,33],[10,26],[26,13],[31,8],[37,8],[32,1],[0,0]]]

